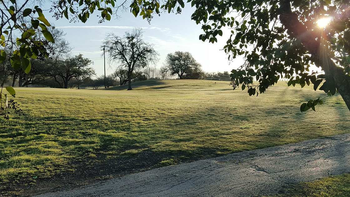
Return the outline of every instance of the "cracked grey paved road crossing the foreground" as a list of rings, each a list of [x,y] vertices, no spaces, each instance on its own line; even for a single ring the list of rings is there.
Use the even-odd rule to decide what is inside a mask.
[[[345,134],[182,163],[36,197],[246,197],[349,171],[350,134]]]

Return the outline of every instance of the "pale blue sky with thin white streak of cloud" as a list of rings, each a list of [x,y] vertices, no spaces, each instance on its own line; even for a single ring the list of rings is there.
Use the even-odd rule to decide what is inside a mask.
[[[201,24],[197,25],[191,20],[193,12],[194,8],[187,3],[181,14],[154,15],[150,24],[141,16],[135,17],[129,11],[119,13],[119,19],[112,17],[111,21],[103,23],[98,23],[97,14],[91,14],[86,23],[70,23],[65,18],[56,20],[48,11],[44,12],[44,15],[52,26],[66,33],[65,40],[73,47],[72,55],[83,54],[83,57],[94,62],[91,67],[96,70],[97,76],[104,74],[103,51],[100,47],[107,34],[123,36],[133,28],[142,28],[144,41],[154,44],[154,49],[159,52],[159,62],[155,65],[158,69],[163,65],[167,54],[175,51],[190,52],[206,72],[230,72],[242,65],[243,58],[228,61],[228,56],[221,50],[230,36],[230,29],[223,30],[223,37],[218,36],[217,43],[203,42],[199,40],[199,35],[203,33]],[[106,54],[106,75],[117,68],[115,63],[109,63],[108,58]]]

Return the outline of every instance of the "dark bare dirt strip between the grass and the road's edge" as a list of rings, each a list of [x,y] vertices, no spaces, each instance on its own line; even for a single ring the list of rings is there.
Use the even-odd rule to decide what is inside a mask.
[[[66,191],[82,187],[103,180],[125,176],[132,173],[159,168],[166,165],[180,162],[190,162],[203,158],[177,159],[180,155],[169,155],[165,153],[155,153],[149,150],[132,157],[116,157],[106,159],[105,155],[98,155],[94,158],[84,159],[84,161],[73,161],[69,166],[74,171],[63,171],[50,178],[36,178],[28,180],[11,180],[0,187],[0,196],[22,197],[45,194],[55,191]],[[168,161],[167,158],[172,162]]]

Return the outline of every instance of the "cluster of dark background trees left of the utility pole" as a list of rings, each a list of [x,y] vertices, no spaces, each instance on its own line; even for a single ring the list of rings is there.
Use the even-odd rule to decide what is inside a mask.
[[[56,88],[80,87],[86,83],[92,76],[96,75],[90,65],[93,63],[90,59],[84,58],[82,54],[72,55],[69,43],[64,40],[65,35],[62,30],[50,28],[55,43],[46,42],[47,54],[36,59],[30,58],[28,68],[30,72],[26,73],[23,69],[15,68],[13,58],[10,54],[15,50],[5,48],[8,54],[7,59],[0,64],[0,82],[10,86],[28,87],[47,86]],[[21,50],[21,49],[20,49]],[[22,58],[22,61],[25,61]]]

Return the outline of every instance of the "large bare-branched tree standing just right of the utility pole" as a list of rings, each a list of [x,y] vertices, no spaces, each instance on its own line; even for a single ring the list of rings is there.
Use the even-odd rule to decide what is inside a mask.
[[[109,34],[104,41],[109,61],[120,64],[127,71],[128,90],[132,90],[131,80],[135,70],[158,61],[158,52],[152,44],[142,40],[142,33],[141,28],[136,28],[132,32],[125,32],[124,37]]]

